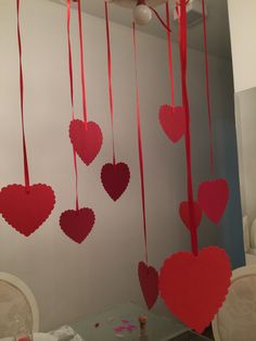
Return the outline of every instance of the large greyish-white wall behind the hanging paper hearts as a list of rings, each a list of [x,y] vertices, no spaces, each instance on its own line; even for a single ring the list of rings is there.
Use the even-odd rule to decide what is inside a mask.
[[[88,111],[89,118],[102,127],[104,144],[89,168],[79,162],[79,194],[81,204],[94,210],[97,223],[81,245],[68,240],[59,227],[60,214],[73,209],[75,199],[67,135],[71,103],[65,18],[64,7],[46,0],[22,1],[25,119],[31,181],[52,185],[56,206],[49,220],[29,239],[20,236],[2,218],[0,222],[0,270],[12,273],[30,286],[39,303],[42,329],[68,324],[128,300],[143,302],[137,278],[138,262],[143,260],[143,238],[131,30],[111,25],[117,159],[127,162],[131,171],[127,192],[114,203],[100,184],[101,167],[111,161],[105,23],[89,15],[85,20]],[[76,35],[74,21],[72,28]],[[23,182],[15,1],[0,1],[0,186],[3,187]],[[81,117],[78,41],[74,40],[76,114]],[[179,202],[185,199],[184,146],[182,142],[171,146],[158,125],[159,105],[169,102],[166,42],[139,34],[138,52],[149,251],[151,264],[158,268],[170,253],[190,249],[189,233],[178,217]],[[201,52],[189,54],[193,173],[197,186],[209,177],[204,59]],[[178,60],[175,47],[175,77],[180,98]],[[236,160],[232,154],[236,155],[232,144],[235,142],[230,97],[232,76],[228,61],[210,58],[209,65],[218,176],[227,173],[227,160],[229,163]],[[229,142],[227,130],[231,131]],[[235,186],[232,191],[236,191]],[[239,211],[235,205],[239,203],[232,202],[229,211]],[[228,226],[233,226],[229,216],[226,219]],[[220,230],[221,227],[204,219],[200,244],[217,242]],[[239,254],[238,248],[235,253]],[[162,303],[156,310],[163,312]]]

